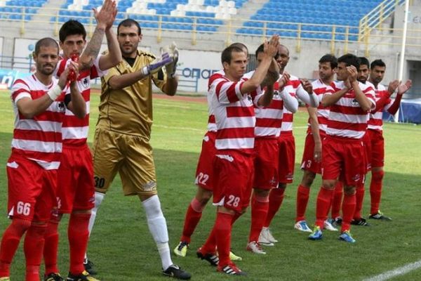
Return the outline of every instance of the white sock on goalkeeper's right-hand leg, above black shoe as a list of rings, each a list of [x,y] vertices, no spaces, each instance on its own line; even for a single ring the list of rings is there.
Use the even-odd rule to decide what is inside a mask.
[[[171,261],[170,246],[168,245],[166,220],[161,211],[158,195],[149,197],[142,202],[142,205],[145,208],[149,232],[154,237],[159,256],[161,256],[162,268],[166,270],[173,264],[173,261]]]

